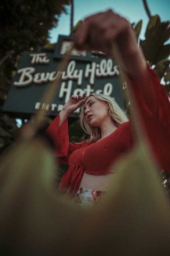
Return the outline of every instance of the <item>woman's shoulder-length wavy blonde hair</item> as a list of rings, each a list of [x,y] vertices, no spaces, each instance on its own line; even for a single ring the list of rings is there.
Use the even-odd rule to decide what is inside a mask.
[[[119,107],[119,105],[115,102],[113,98],[106,96],[104,94],[97,94],[97,93],[92,93],[89,95],[89,97],[90,96],[94,96],[96,99],[102,100],[108,104],[109,114],[117,127],[119,127],[122,123],[127,122],[129,120],[128,117],[126,116],[125,111],[123,111]],[[100,128],[92,127],[88,124],[84,114],[84,107],[82,108],[82,111],[80,114],[80,125],[82,129],[85,131],[85,133],[90,135],[90,139],[88,140],[88,143],[96,142],[98,139],[101,138]]]

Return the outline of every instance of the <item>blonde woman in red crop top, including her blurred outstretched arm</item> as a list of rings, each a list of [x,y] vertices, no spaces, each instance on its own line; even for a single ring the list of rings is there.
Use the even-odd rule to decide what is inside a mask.
[[[111,10],[92,15],[85,19],[75,45],[79,50],[95,49],[111,55],[113,41],[118,45],[121,66],[155,159],[161,169],[168,171],[168,95],[147,65],[128,21]],[[90,139],[69,143],[67,118],[83,104],[81,126]],[[85,99],[72,95],[47,132],[56,143],[60,162],[69,164],[59,189],[75,196],[78,202],[83,199],[85,204],[107,191],[113,164],[135,143],[133,125],[125,113],[111,98],[98,94]]]

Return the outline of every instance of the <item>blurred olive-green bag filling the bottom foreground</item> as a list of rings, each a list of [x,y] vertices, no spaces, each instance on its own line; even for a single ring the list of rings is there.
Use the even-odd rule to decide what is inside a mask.
[[[112,188],[89,210],[54,191],[55,169],[42,136],[1,160],[1,255],[169,255],[168,204],[145,145],[117,164]]]

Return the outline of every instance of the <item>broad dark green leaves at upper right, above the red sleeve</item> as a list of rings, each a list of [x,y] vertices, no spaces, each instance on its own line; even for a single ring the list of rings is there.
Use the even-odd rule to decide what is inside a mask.
[[[161,22],[159,15],[151,16],[146,32],[145,40],[140,40],[139,44],[143,53],[153,67],[160,79],[165,82],[165,87],[170,93],[170,44],[166,42],[170,38],[170,22]],[[134,28],[137,38],[141,30],[141,21]]]

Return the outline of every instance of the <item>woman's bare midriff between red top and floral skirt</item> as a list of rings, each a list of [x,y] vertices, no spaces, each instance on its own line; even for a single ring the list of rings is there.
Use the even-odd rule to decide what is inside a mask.
[[[113,175],[114,173],[109,173],[106,175],[92,175],[84,173],[80,187],[107,192]]]

